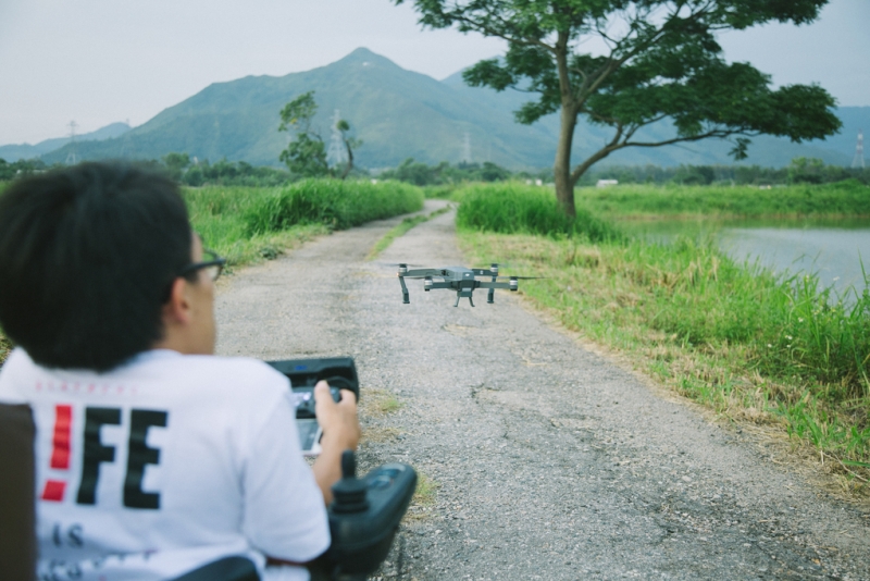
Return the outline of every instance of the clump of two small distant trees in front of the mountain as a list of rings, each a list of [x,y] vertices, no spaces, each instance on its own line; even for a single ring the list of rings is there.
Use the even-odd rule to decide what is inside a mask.
[[[311,128],[311,120],[318,112],[318,103],[314,101],[314,91],[303,92],[293,101],[284,106],[281,111],[279,132],[288,131],[290,127],[296,132],[296,138],[287,145],[287,149],[281,152],[278,159],[287,164],[287,169],[295,174],[306,177],[319,177],[324,175],[335,175],[336,171],[330,168],[326,159],[326,146],[320,134]],[[362,145],[362,141],[349,136],[350,123],[338,120],[335,128],[341,135],[341,143],[347,149],[347,165],[340,177],[344,180],[353,169],[353,149]]]

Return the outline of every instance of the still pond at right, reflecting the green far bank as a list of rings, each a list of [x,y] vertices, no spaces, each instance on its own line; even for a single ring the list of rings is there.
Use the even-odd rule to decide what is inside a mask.
[[[736,260],[758,261],[776,272],[815,272],[838,294],[866,288],[870,274],[870,219],[625,220],[627,233],[659,242],[679,235],[712,236]]]

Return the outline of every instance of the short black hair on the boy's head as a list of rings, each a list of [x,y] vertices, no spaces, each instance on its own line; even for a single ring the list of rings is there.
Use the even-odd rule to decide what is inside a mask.
[[[178,186],[125,162],[82,163],[0,196],[0,325],[37,363],[108,371],[163,336],[190,263]]]

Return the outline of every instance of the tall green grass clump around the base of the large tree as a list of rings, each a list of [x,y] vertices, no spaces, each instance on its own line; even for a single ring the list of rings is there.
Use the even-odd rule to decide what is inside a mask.
[[[460,201],[457,225],[468,230],[582,236],[592,242],[620,238],[613,226],[595,218],[583,207],[576,209],[576,218],[567,217],[549,188],[515,182],[474,184],[458,190],[456,198]]]

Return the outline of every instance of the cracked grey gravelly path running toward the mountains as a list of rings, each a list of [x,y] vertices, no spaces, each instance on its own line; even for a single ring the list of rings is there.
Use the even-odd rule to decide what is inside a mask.
[[[412,507],[378,577],[870,580],[870,512],[660,397],[515,295],[453,308],[452,293],[411,281],[402,305],[385,263],[462,264],[453,217],[377,262],[364,257],[400,218],[334,233],[217,297],[221,355],[350,355],[362,405],[366,391],[398,403],[363,408],[361,467],[405,461],[437,492]]]

